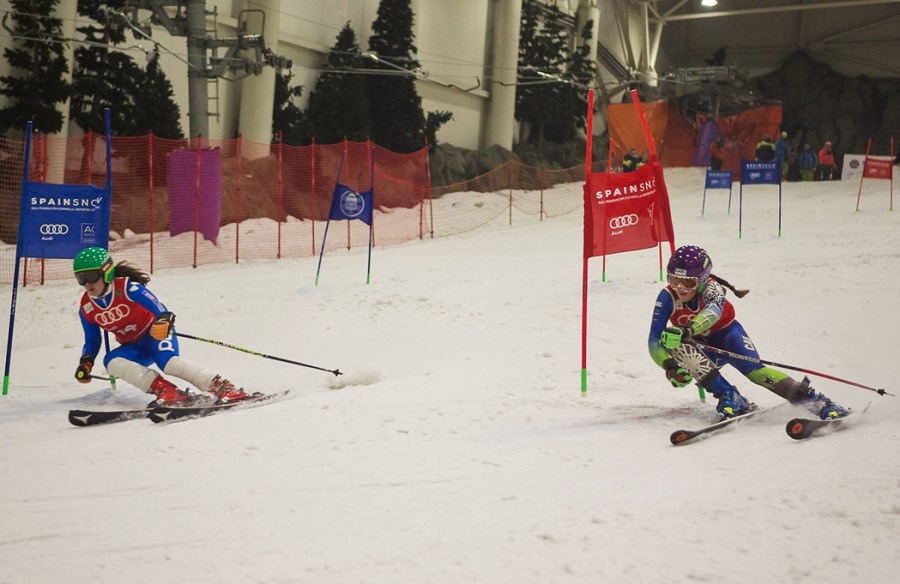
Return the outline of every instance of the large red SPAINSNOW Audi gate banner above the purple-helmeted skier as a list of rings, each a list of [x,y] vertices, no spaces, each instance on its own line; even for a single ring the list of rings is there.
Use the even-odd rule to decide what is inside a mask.
[[[594,172],[584,189],[584,257],[674,241],[669,194],[655,156],[627,173]]]

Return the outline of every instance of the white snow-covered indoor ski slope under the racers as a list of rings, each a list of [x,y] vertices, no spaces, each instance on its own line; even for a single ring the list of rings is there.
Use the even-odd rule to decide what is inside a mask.
[[[702,176],[666,171],[677,243],[751,289],[734,302],[763,358],[900,394],[888,183],[867,181],[859,212],[858,183],[786,184],[780,238],[777,187],[748,187],[738,238],[738,185],[730,214],[709,191],[701,217]],[[156,273],[180,331],[344,372],[185,339],[185,357],[294,397],[161,426],[70,426],[69,409],[147,397],[73,380],[74,281],[20,289],[0,583],[897,581],[900,397],[813,377],[871,405],[796,442],[802,410],[726,368],[774,408],[674,447],[714,408],[647,354],[657,250],[607,258],[606,282],[590,261],[582,396],[581,213],[507,223],[376,248],[368,285],[365,249],[329,253],[318,286],[317,258]]]

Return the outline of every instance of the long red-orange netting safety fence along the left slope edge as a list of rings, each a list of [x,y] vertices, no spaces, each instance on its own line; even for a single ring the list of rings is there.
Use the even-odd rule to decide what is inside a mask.
[[[25,143],[0,138],[0,283],[12,282],[22,192]],[[105,136],[36,136],[29,179],[37,182],[102,185],[106,178]],[[362,192],[374,186],[374,244],[393,245],[452,235],[485,225],[513,209],[553,217],[581,206],[584,167],[541,169],[510,161],[468,181],[432,188],[426,148],[397,154],[370,142],[290,146],[258,144],[241,138],[221,141],[166,140],[152,135],[112,138],[110,252],[151,272],[159,269],[294,258],[321,251],[331,195],[338,180]],[[201,229],[171,235],[173,186],[168,161],[176,151],[217,153],[220,228],[214,241]],[[374,160],[373,160],[374,157]],[[343,161],[343,163],[342,163]],[[371,176],[374,168],[374,177]],[[195,184],[196,183],[196,184]],[[563,185],[558,187],[558,185]],[[516,191],[515,194],[513,191]],[[435,214],[432,197],[457,197]],[[199,198],[199,195],[198,195]],[[181,220],[183,217],[178,217]],[[341,224],[343,223],[343,225]],[[331,226],[325,251],[366,247],[368,225],[361,221]],[[69,260],[23,260],[22,285],[71,277]]]

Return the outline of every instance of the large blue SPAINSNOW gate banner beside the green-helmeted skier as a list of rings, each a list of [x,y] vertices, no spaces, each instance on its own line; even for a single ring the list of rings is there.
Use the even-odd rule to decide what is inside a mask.
[[[68,259],[85,247],[107,247],[111,198],[109,186],[24,181],[21,256]]]

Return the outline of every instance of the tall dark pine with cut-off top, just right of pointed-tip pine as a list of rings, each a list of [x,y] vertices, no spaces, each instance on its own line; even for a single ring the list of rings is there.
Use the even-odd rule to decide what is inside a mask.
[[[374,62],[368,68],[384,73],[365,77],[372,140],[394,152],[414,152],[425,144],[425,114],[415,87],[419,62],[412,24],[409,0],[381,0],[369,37],[369,50],[393,65]]]

